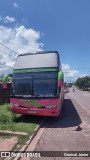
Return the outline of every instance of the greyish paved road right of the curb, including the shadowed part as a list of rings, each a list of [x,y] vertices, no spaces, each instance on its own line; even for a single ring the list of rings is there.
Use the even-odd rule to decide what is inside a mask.
[[[49,117],[35,151],[90,151],[90,95],[75,89],[65,95],[60,117]],[[33,143],[33,142],[32,142]],[[29,148],[27,149],[29,151]],[[45,160],[86,160],[87,157],[45,157]]]

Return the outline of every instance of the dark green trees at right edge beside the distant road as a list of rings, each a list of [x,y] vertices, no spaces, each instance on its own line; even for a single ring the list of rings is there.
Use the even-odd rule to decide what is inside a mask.
[[[78,78],[75,82],[75,85],[78,86],[79,88],[88,89],[90,87],[90,77],[86,76],[86,77]]]

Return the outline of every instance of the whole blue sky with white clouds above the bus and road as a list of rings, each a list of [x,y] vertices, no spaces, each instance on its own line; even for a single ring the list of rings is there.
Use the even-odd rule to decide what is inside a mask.
[[[1,44],[17,54],[58,51],[66,82],[90,76],[90,0],[0,0],[0,63],[13,67],[17,55]]]

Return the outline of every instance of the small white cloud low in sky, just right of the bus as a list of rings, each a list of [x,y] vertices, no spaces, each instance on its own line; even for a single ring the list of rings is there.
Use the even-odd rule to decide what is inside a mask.
[[[77,78],[86,76],[78,70],[72,69],[69,64],[62,64],[62,70],[64,71],[66,82],[74,82]]]

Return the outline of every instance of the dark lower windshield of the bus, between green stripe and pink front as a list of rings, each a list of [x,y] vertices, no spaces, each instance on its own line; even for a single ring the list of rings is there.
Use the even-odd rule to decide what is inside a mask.
[[[15,73],[11,96],[56,97],[57,72]]]

